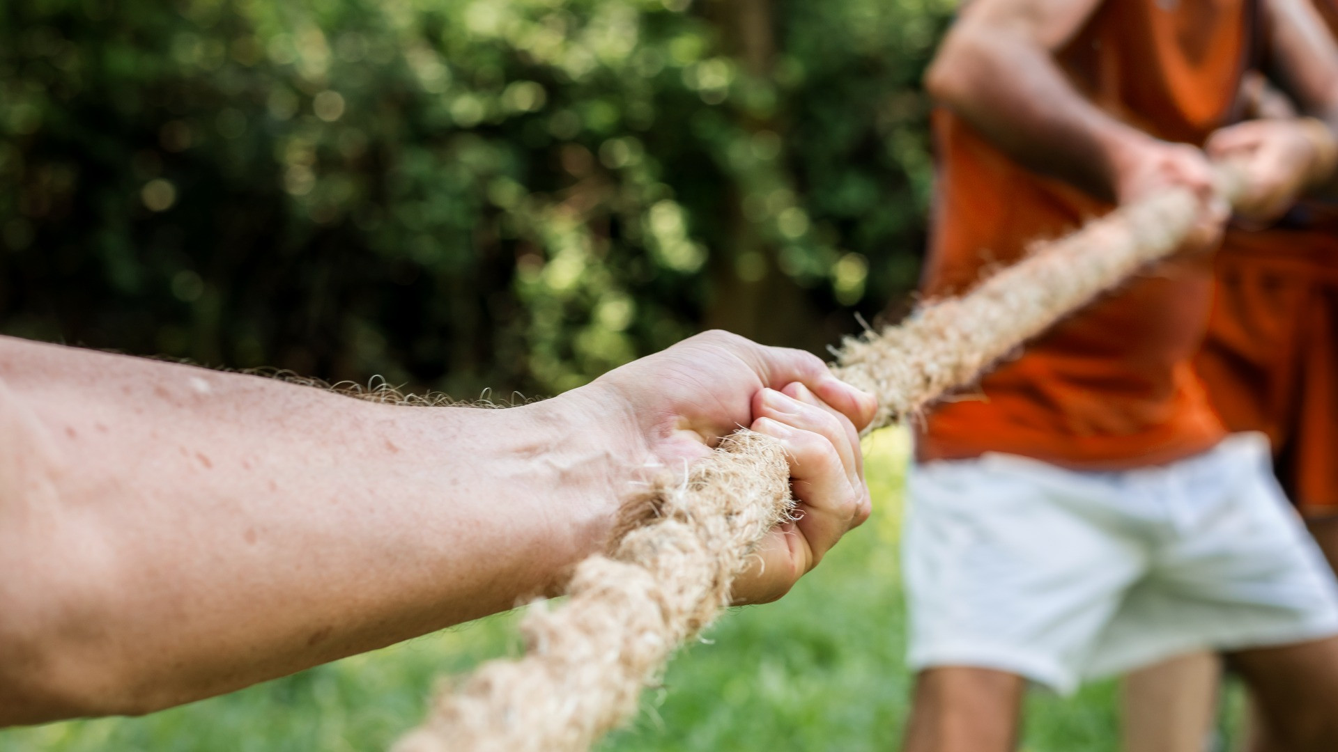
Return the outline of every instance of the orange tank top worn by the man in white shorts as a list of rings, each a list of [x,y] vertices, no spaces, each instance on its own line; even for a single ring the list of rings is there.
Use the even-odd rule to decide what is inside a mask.
[[[1251,0],[1108,0],[1058,55],[1115,116],[1202,143],[1235,118]],[[1002,74],[1006,75],[1006,74]],[[937,201],[925,290],[961,292],[991,264],[1112,206],[1021,167],[947,111],[934,118]],[[1175,258],[1030,343],[963,397],[930,412],[921,460],[986,451],[1078,468],[1176,460],[1224,434],[1191,367],[1212,294],[1208,257]]]

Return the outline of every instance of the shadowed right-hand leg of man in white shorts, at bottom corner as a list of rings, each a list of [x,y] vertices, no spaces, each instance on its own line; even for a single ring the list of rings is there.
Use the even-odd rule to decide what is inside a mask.
[[[1338,749],[1338,637],[1232,654],[1250,685],[1259,732],[1252,752]]]

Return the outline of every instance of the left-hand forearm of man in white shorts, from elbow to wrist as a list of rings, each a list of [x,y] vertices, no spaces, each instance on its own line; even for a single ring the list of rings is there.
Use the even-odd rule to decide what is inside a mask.
[[[1018,163],[1105,199],[1125,154],[1151,138],[1084,99],[1049,51],[1002,24],[963,19],[927,86]]]

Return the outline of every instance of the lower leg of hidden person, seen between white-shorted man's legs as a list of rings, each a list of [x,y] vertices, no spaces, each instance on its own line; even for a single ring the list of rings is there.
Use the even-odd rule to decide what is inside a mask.
[[[1124,677],[1125,752],[1203,752],[1218,709],[1216,653],[1176,656]]]

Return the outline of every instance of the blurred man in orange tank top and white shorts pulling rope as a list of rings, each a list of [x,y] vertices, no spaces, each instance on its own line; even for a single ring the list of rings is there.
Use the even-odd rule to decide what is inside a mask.
[[[1338,64],[1315,23],[1305,0],[974,0],[945,39],[926,82],[941,104],[927,294],[1169,186],[1202,210],[1175,258],[918,428],[907,751],[1006,751],[1028,680],[1064,692],[1199,648],[1234,654],[1288,749],[1338,748],[1338,583],[1266,442],[1228,436],[1192,365],[1227,213],[1200,146],[1242,118],[1256,29],[1326,119],[1235,131],[1244,213],[1333,177],[1338,86],[1313,62],[1334,80]]]

